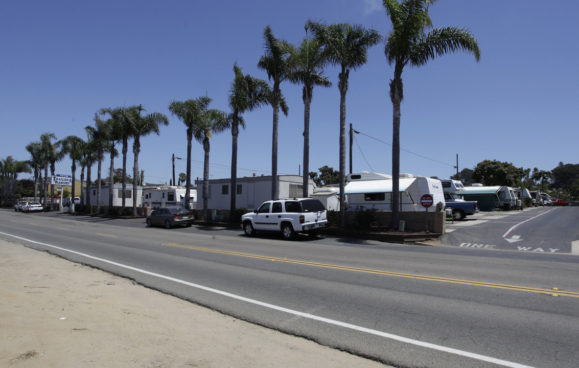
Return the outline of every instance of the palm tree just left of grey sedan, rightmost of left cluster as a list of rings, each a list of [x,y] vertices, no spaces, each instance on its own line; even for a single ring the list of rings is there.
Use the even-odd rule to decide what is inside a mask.
[[[167,116],[160,112],[152,112],[145,116],[141,116],[141,112],[146,111],[142,105],[135,105],[127,108],[126,116],[132,126],[131,132],[133,135],[133,216],[137,216],[137,184],[139,173],[139,152],[141,152],[141,137],[148,136],[151,133],[159,135],[159,127],[161,125],[169,125]]]

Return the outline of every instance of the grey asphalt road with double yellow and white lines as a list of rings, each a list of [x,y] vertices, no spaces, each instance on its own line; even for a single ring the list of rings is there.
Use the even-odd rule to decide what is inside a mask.
[[[486,231],[503,240],[515,223]],[[529,238],[525,224],[508,235]],[[0,210],[7,241],[389,365],[559,368],[579,361],[575,255],[241,234]]]

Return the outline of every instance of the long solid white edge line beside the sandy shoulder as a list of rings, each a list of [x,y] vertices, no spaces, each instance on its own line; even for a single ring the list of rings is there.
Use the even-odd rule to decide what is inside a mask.
[[[480,354],[474,354],[474,353],[471,353],[471,352],[468,352],[468,351],[463,351],[463,350],[459,350],[459,349],[448,348],[448,347],[444,347],[444,346],[436,345],[436,344],[425,343],[424,341],[413,340],[412,338],[408,338],[408,337],[397,336],[397,335],[389,334],[389,333],[382,332],[382,331],[378,331],[378,330],[368,329],[368,328],[366,328],[366,327],[351,325],[350,323],[340,322],[340,321],[334,320],[334,319],[328,319],[328,318],[324,318],[324,317],[320,317],[320,316],[316,316],[316,315],[312,315],[312,314],[308,314],[308,313],[303,313],[303,312],[299,312],[299,311],[294,311],[293,309],[288,309],[288,308],[284,308],[284,307],[279,307],[278,305],[269,304],[269,303],[264,303],[264,302],[262,302],[262,301],[253,300],[253,299],[250,299],[250,298],[242,297],[242,296],[239,296],[239,295],[236,295],[236,294],[231,294],[231,293],[228,293],[228,292],[222,292],[221,290],[212,289],[211,287],[207,287],[207,286],[203,286],[203,285],[198,285],[198,284],[191,283],[191,282],[188,282],[188,281],[185,281],[185,280],[175,279],[175,278],[172,278],[172,277],[166,276],[166,275],[156,274],[155,272],[150,272],[150,271],[146,271],[146,270],[144,270],[144,269],[135,268],[135,267],[131,267],[131,266],[129,266],[129,265],[125,265],[125,264],[121,264],[121,263],[116,263],[116,262],[113,262],[113,261],[105,260],[104,258],[98,258],[98,257],[90,256],[89,254],[76,252],[75,250],[65,249],[65,248],[62,248],[62,247],[58,247],[58,246],[54,246],[54,245],[50,245],[50,244],[46,244],[46,243],[41,243],[41,242],[32,241],[32,240],[30,240],[30,239],[21,238],[20,236],[16,236],[16,235],[12,235],[12,234],[6,234],[5,232],[0,232],[0,234],[12,236],[13,238],[21,239],[21,240],[23,240],[23,241],[27,241],[27,242],[31,242],[31,243],[35,243],[35,244],[39,244],[39,245],[44,245],[44,246],[47,246],[47,247],[52,247],[52,248],[54,248],[54,249],[64,250],[65,252],[78,254],[79,256],[91,258],[91,259],[93,259],[93,260],[105,262],[105,263],[112,264],[112,265],[115,265],[115,266],[118,266],[118,267],[122,267],[122,268],[126,268],[126,269],[131,269],[132,271],[140,272],[141,274],[150,275],[150,276],[156,276],[156,277],[161,278],[161,279],[166,279],[166,280],[170,280],[170,281],[173,281],[173,282],[181,283],[181,284],[183,284],[183,285],[195,287],[195,288],[197,288],[197,289],[206,290],[207,292],[211,292],[211,293],[215,293],[215,294],[220,294],[220,295],[223,295],[223,296],[226,296],[226,297],[230,297],[230,298],[234,298],[234,299],[241,300],[241,301],[246,301],[247,303],[256,304],[256,305],[261,305],[262,307],[266,307],[266,308],[270,308],[270,309],[275,309],[275,310],[277,310],[277,311],[285,312],[285,313],[292,314],[292,315],[295,315],[295,316],[301,316],[301,317],[303,317],[303,318],[318,320],[318,321],[320,321],[320,322],[325,322],[325,323],[329,323],[329,324],[331,324],[331,325],[340,326],[340,327],[345,327],[345,328],[351,329],[351,330],[362,331],[362,332],[366,332],[366,333],[373,334],[373,335],[376,335],[376,336],[382,336],[382,337],[390,338],[391,340],[401,341],[402,343],[408,343],[408,344],[417,345],[417,346],[421,346],[421,347],[425,347],[425,348],[430,348],[430,349],[434,349],[434,350],[438,350],[438,351],[444,351],[444,352],[448,352],[448,353],[450,353],[450,354],[455,354],[455,355],[460,355],[460,356],[466,356],[467,358],[482,360],[483,362],[490,362],[490,363],[498,364],[498,365],[505,366],[505,367],[511,367],[511,368],[533,368],[533,367],[531,367],[531,366],[526,366],[526,365],[522,365],[522,364],[519,364],[519,363],[509,362],[508,360],[496,359],[496,358],[492,358],[492,357],[490,357],[490,356],[485,356],[485,355],[480,355]]]

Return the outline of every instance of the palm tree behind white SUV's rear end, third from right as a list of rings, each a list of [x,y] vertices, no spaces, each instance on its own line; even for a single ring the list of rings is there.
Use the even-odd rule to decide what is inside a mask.
[[[328,54],[317,39],[307,35],[302,39],[298,48],[291,43],[284,43],[290,54],[290,63],[293,63],[294,72],[290,75],[292,83],[303,85],[303,197],[309,196],[310,170],[310,105],[314,86],[330,87],[332,83],[324,76],[324,67],[328,64]]]

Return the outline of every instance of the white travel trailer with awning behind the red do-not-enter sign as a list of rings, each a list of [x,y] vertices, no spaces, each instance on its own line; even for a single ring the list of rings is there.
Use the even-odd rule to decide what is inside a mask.
[[[424,194],[430,194],[433,197],[433,206],[428,210],[436,210],[437,205],[440,210],[444,210],[444,193],[440,180],[400,174],[399,183],[398,202],[401,211],[426,211],[426,207],[420,205],[420,198]],[[345,194],[349,210],[374,208],[391,211],[392,177],[387,174],[368,172],[349,174]]]

